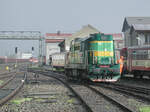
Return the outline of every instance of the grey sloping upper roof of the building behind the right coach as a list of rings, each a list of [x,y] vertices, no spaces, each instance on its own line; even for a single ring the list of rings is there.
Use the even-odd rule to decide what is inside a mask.
[[[122,31],[124,32],[126,29],[130,28],[132,25],[146,25],[150,24],[150,17],[126,17],[124,19]]]

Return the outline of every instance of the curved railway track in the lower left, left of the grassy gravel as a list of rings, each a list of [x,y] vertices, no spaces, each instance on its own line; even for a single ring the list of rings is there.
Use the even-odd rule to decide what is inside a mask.
[[[19,90],[23,87],[25,80],[26,74],[20,72],[13,75],[0,86],[0,106],[5,104],[8,100],[15,96],[17,92],[19,92]]]

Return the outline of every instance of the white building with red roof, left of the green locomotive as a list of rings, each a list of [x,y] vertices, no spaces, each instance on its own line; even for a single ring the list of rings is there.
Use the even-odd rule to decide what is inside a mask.
[[[45,51],[46,51],[46,64],[49,64],[49,57],[51,54],[60,52],[60,47],[58,46],[60,42],[65,41],[70,38],[72,34],[69,33],[46,33],[45,35]],[[66,46],[63,47],[67,49]]]

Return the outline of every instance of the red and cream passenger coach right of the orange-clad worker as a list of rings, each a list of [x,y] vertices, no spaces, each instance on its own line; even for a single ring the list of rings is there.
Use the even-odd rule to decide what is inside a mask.
[[[124,74],[132,73],[134,77],[150,78],[150,45],[129,47],[121,50],[124,56]]]

